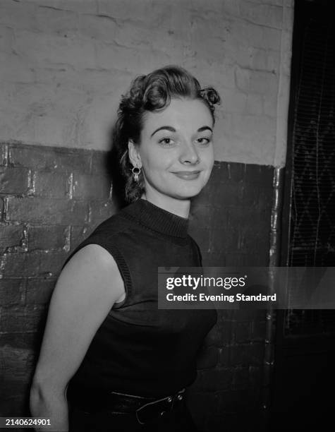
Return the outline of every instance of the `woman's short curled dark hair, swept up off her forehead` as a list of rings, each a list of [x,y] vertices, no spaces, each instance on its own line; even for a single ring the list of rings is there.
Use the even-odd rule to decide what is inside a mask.
[[[214,108],[220,103],[214,88],[201,88],[197,79],[179,66],[166,66],[148,75],[133,80],[130,90],[121,97],[118,119],[114,128],[114,145],[118,152],[121,171],[126,179],[126,200],[132,202],[145,191],[143,174],[138,181],[132,175],[133,165],[129,160],[128,141],[140,143],[145,112],[167,107],[171,97],[187,97],[202,100],[214,119]]]

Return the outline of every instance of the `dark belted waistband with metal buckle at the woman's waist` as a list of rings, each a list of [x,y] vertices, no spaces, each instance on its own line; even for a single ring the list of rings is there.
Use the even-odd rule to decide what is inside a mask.
[[[71,407],[89,413],[135,414],[140,424],[145,424],[154,416],[171,412],[184,402],[185,397],[185,388],[164,397],[73,388],[69,390],[67,397]]]

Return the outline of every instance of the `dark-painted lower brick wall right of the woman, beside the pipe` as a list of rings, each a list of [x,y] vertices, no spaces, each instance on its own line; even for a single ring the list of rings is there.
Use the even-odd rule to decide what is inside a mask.
[[[272,167],[215,162],[193,201],[190,234],[208,266],[269,265]],[[265,311],[218,311],[190,407],[203,431],[261,430]]]

